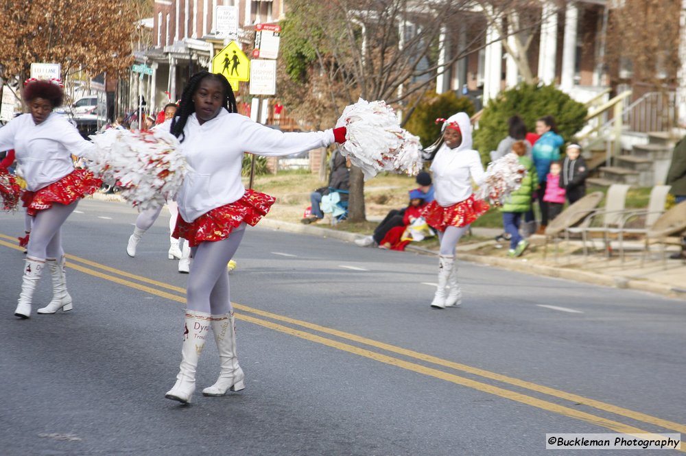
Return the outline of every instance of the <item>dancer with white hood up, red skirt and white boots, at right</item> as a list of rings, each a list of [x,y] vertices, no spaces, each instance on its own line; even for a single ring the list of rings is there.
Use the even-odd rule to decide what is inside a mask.
[[[475,200],[472,181],[484,182],[484,165],[472,149],[471,122],[465,112],[443,121],[442,145],[432,154],[436,200],[424,212],[429,226],[438,230],[438,288],[431,307],[443,309],[462,303],[462,290],[455,265],[455,248],[469,225],[488,211],[488,204]]]

